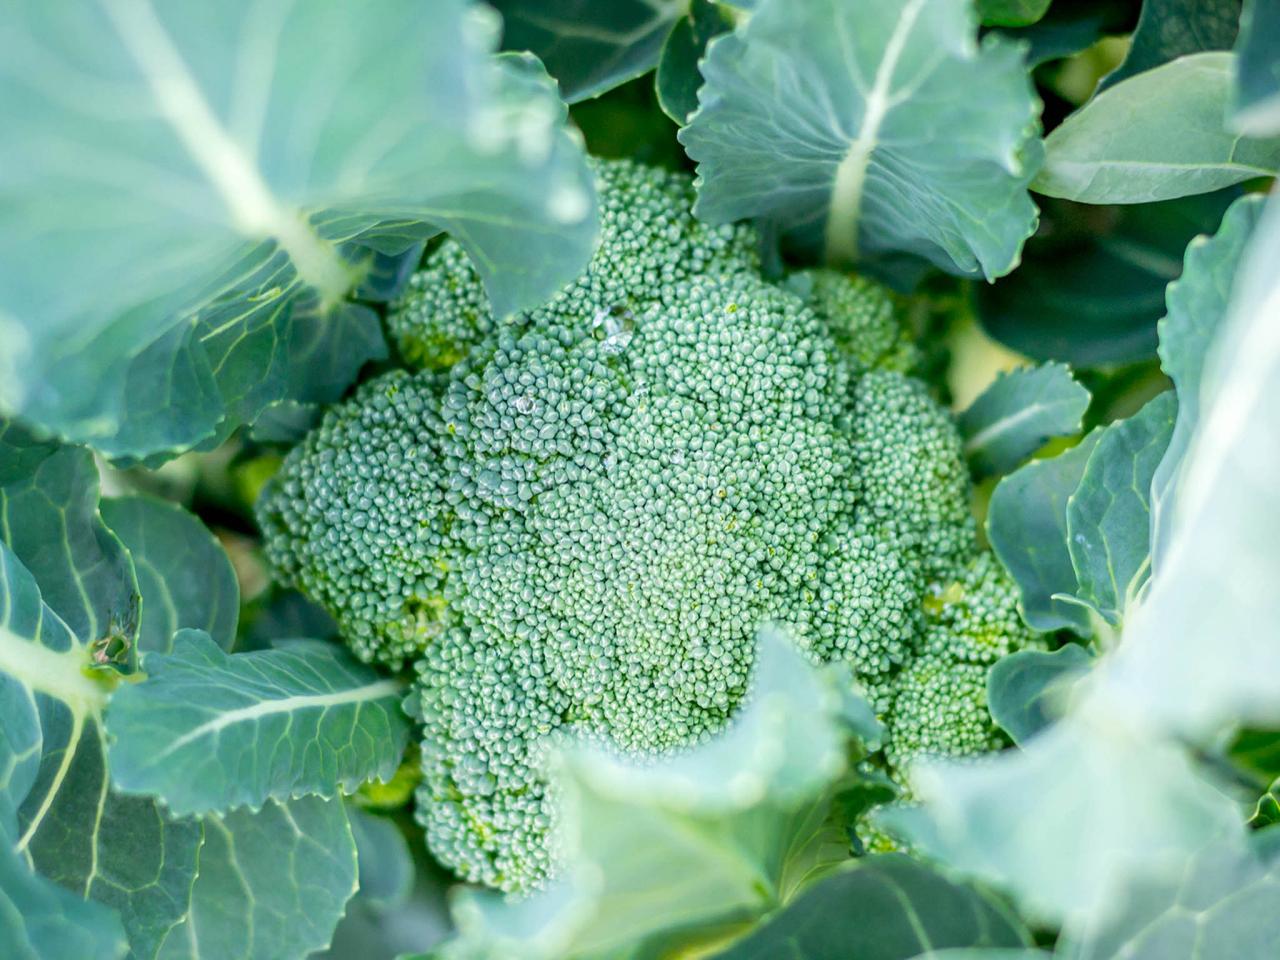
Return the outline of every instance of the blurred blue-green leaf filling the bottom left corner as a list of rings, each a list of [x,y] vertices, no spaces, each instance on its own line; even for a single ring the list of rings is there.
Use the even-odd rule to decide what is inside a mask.
[[[120,919],[31,872],[0,827],[0,956],[6,960],[119,960]]]

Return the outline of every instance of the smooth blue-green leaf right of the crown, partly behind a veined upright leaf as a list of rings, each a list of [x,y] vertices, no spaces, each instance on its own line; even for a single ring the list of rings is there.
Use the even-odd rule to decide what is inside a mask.
[[[1092,631],[1088,611],[1060,599],[1074,596],[1075,568],[1066,545],[1066,503],[1079,486],[1094,431],[1052,460],[1032,461],[996,486],[987,508],[987,538],[1018,584],[1023,618],[1036,630]]]

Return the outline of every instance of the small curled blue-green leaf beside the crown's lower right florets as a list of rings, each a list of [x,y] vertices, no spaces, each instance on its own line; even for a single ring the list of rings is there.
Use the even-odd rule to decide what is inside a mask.
[[[1053,723],[1066,708],[1066,687],[1088,673],[1093,657],[1079,644],[1053,650],[1016,650],[987,675],[991,718],[1019,746]]]

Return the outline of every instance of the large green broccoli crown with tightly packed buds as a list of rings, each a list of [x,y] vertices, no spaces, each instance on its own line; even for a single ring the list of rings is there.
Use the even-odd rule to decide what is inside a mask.
[[[389,319],[416,371],[328,411],[259,508],[282,576],[353,649],[415,664],[435,854],[516,891],[556,864],[547,737],[653,755],[713,735],[762,622],[852,664],[891,731],[920,718],[900,759],[989,742],[984,690],[928,671],[1021,637],[890,294],[773,284],[748,228],[689,214],[687,178],[598,170],[576,283],[494,317],[442,243]],[[974,716],[957,744],[952,696]]]

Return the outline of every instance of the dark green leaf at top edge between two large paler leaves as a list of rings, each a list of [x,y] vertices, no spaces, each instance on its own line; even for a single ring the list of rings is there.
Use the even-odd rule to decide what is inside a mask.
[[[529,50],[576,104],[658,64],[671,28],[690,0],[494,0],[502,45]]]

